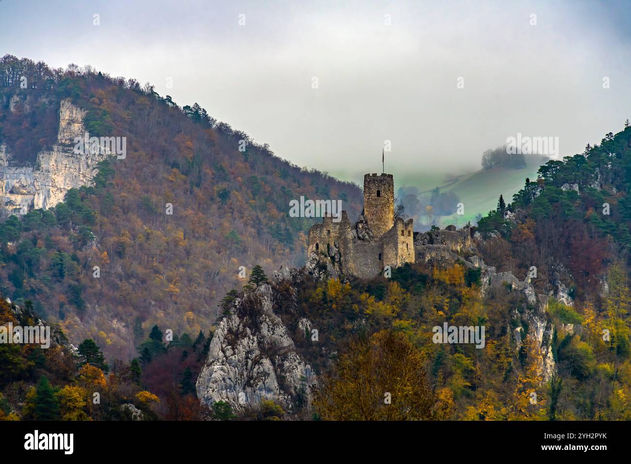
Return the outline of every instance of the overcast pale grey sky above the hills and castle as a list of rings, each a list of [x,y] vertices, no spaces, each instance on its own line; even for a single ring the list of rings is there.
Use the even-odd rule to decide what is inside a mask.
[[[357,179],[385,140],[386,171],[454,173],[517,133],[598,143],[631,117],[630,24],[630,2],[0,0],[0,53],[150,81]]]

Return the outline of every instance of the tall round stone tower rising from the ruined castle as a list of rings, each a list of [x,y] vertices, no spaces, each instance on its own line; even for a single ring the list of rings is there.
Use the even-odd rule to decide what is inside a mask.
[[[363,213],[374,238],[394,225],[394,180],[392,174],[363,176]]]

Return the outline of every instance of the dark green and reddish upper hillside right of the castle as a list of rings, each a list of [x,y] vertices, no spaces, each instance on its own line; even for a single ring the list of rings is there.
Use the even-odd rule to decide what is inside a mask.
[[[628,265],[631,246],[631,128],[609,133],[600,145],[541,166],[537,179],[479,222],[481,232],[497,230],[509,246],[489,256],[505,270],[537,266],[549,280],[551,268],[565,268],[579,299],[603,290],[612,263]],[[505,217],[509,211],[509,217]],[[514,214],[512,214],[514,213]],[[543,275],[541,274],[543,272]],[[563,273],[559,271],[559,273]]]

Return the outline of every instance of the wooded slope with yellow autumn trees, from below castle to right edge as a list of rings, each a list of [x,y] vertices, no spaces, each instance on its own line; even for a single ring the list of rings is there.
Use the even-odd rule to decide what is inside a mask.
[[[325,419],[630,419],[630,192],[627,121],[543,165],[512,203],[500,198],[456,262],[419,265],[417,250],[417,265],[390,279],[304,290],[304,314],[325,314],[315,326],[348,343],[319,366],[329,374],[316,409]],[[497,273],[468,265],[474,253]],[[485,326],[485,347],[437,344],[432,327],[444,321]]]

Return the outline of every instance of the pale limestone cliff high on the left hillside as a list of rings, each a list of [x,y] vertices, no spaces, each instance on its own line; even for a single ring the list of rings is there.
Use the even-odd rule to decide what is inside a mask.
[[[0,213],[25,215],[28,211],[48,209],[64,199],[66,191],[89,185],[97,164],[107,155],[74,153],[74,138],[83,136],[82,110],[66,99],[59,109],[57,143],[42,150],[32,166],[11,164],[7,146],[0,145]]]

